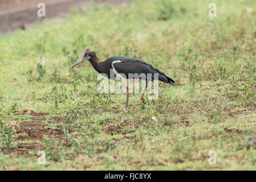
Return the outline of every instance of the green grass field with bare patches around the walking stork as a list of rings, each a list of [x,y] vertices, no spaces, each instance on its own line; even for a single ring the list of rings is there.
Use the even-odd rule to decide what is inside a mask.
[[[255,169],[256,151],[246,148],[256,135],[255,8],[253,0],[89,3],[2,36],[0,169]],[[97,93],[89,63],[69,69],[86,46],[101,60],[147,61],[176,85],[161,82],[145,106],[132,94],[125,110],[125,94]]]

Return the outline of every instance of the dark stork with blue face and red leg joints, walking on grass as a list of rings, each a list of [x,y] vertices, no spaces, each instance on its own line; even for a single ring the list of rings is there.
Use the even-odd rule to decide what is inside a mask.
[[[138,75],[140,75],[141,73],[144,73],[144,75],[148,75],[148,73],[151,73],[149,74],[152,75],[151,77],[141,77],[141,79],[146,80],[145,90],[147,89],[148,81],[153,81],[156,78],[153,76],[154,74],[157,74],[157,79],[162,82],[171,85],[175,84],[175,82],[171,78],[166,76],[163,72],[159,71],[159,69],[156,69],[151,64],[145,63],[144,61],[135,59],[133,57],[113,56],[109,57],[105,61],[100,62],[95,52],[86,52],[84,53],[83,57],[81,57],[74,65],[72,65],[71,69],[76,67],[76,65],[83,63],[86,60],[90,61],[90,63],[97,72],[105,73],[105,75],[107,75],[107,77],[110,79],[115,79],[115,77],[111,78],[111,75],[116,76],[117,73],[125,75],[126,78],[129,78],[129,73],[137,73]],[[111,72],[113,73],[111,74]],[[143,98],[145,90],[140,98],[141,101],[145,101]],[[127,85],[126,107],[128,107],[128,100],[129,90]]]

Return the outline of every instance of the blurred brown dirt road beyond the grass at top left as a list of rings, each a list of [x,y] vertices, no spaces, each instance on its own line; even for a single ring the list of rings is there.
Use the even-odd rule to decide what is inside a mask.
[[[31,24],[55,16],[66,16],[71,7],[81,8],[88,1],[128,4],[128,0],[0,0],[0,32],[9,32],[17,28],[25,29]],[[46,5],[46,17],[38,17],[38,3]]]

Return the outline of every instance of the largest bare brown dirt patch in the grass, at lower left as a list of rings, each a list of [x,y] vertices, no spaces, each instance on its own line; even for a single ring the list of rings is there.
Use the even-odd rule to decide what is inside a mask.
[[[31,121],[12,121],[10,123],[11,126],[14,127],[15,132],[18,136],[15,140],[18,142],[18,146],[13,150],[3,150],[3,154],[9,156],[26,156],[29,154],[29,151],[33,150],[43,150],[44,146],[40,142],[27,143],[26,140],[30,139],[32,141],[42,141],[43,136],[46,135],[50,138],[59,138],[63,136],[63,131],[59,128],[52,129],[49,127],[49,123],[59,124],[64,123],[65,118],[63,117],[55,117],[50,119],[47,123],[43,123],[46,120],[46,116],[50,115],[49,113],[37,113],[31,109],[22,109],[19,113],[15,115],[29,115]],[[72,133],[72,136],[76,134]],[[24,142],[22,142],[24,141]]]

